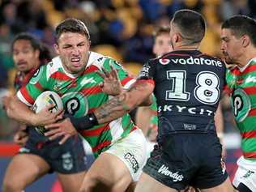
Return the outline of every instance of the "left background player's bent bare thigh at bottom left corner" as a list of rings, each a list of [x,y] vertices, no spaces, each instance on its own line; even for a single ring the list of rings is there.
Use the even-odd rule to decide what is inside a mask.
[[[49,164],[40,156],[32,154],[18,154],[14,156],[6,169],[4,183],[28,186],[37,178],[49,172]]]

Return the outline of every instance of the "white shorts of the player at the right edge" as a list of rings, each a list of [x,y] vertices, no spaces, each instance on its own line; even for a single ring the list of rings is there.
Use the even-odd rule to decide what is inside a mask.
[[[250,190],[256,191],[256,162],[252,160],[245,160],[244,156],[241,156],[237,160],[237,172],[233,180],[235,187],[243,183]]]

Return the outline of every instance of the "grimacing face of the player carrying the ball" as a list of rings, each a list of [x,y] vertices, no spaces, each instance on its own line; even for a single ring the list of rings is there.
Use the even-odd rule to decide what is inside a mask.
[[[63,32],[54,45],[69,73],[77,74],[84,70],[89,58],[90,41],[87,36],[77,32]]]

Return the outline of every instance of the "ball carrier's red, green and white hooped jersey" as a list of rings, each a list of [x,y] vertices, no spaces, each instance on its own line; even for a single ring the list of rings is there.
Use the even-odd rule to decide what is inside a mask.
[[[32,105],[41,92],[46,90],[58,92],[62,96],[66,112],[75,117],[83,117],[103,105],[111,97],[102,92],[99,83],[103,79],[96,74],[96,71],[102,68],[111,70],[110,65],[117,70],[123,86],[128,87],[134,83],[135,80],[128,76],[126,70],[112,58],[91,52],[82,75],[67,73],[62,66],[61,59],[53,58],[52,62],[41,66],[36,71],[26,87],[19,90],[17,96],[23,103]],[[126,137],[134,129],[136,129],[134,123],[130,120],[129,114],[126,114],[113,122],[83,130],[80,134],[91,145],[94,155],[98,156],[112,143]]]

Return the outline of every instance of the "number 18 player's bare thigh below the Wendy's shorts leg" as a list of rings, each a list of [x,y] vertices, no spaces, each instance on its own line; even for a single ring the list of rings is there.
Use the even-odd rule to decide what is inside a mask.
[[[134,192],[177,192],[178,190],[172,189],[164,184],[156,181],[153,177],[143,173],[139,178]]]

